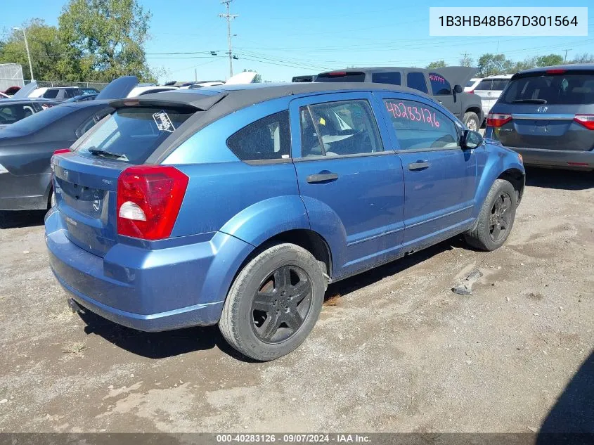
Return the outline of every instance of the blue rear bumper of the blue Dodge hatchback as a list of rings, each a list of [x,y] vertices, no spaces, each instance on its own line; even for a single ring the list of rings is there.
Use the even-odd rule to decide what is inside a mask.
[[[116,244],[98,257],[67,238],[60,212],[46,217],[46,245],[58,282],[82,307],[115,323],[160,331],[219,321],[233,278],[219,255],[245,254],[247,243],[224,233],[160,250]]]

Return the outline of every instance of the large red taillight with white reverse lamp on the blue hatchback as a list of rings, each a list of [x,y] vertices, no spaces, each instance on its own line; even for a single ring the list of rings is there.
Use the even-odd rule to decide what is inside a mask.
[[[117,233],[161,240],[171,236],[188,176],[175,167],[128,167],[117,179]]]

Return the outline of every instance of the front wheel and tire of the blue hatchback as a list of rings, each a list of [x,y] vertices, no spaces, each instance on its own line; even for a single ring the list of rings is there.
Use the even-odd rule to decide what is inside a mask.
[[[464,234],[480,250],[496,250],[508,239],[515,219],[517,192],[509,181],[496,179],[486,195],[477,224]]]

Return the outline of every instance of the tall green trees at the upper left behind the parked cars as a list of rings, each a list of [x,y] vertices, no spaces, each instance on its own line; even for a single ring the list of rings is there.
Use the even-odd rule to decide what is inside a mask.
[[[34,18],[23,25],[37,80],[110,82],[136,75],[155,82],[144,46],[151,14],[136,0],[69,0],[58,26]],[[22,29],[0,37],[0,63],[19,63],[30,78]]]

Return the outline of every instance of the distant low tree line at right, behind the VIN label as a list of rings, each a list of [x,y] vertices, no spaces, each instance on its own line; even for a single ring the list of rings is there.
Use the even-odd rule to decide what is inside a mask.
[[[564,61],[564,57],[559,54],[548,54],[546,56],[533,56],[524,60],[513,61],[505,57],[505,54],[486,53],[480,56],[477,64],[474,65],[474,59],[465,55],[460,59],[460,65],[472,67],[477,66],[479,71],[477,77],[487,77],[502,74],[514,74],[518,71],[528,70],[529,68],[545,67],[551,65],[562,65],[563,63],[594,63],[594,55],[584,53],[575,56],[572,60]],[[445,60],[436,60],[427,65],[428,69],[443,68],[448,66]]]

